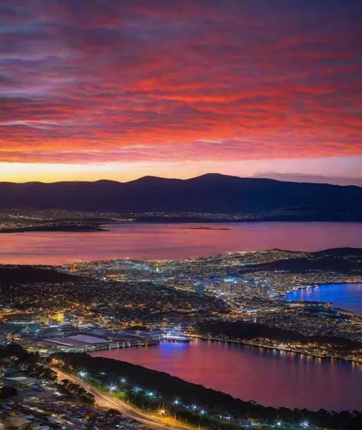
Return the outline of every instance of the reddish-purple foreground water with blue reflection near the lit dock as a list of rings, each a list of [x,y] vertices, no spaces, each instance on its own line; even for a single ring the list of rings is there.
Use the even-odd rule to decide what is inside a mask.
[[[96,351],[272,407],[362,410],[362,365],[214,341]]]

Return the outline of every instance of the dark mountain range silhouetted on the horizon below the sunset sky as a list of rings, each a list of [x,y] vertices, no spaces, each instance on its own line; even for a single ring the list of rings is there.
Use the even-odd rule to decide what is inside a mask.
[[[118,213],[305,211],[310,220],[362,220],[362,188],[206,174],[192,179],[0,183],[0,208]],[[280,210],[279,210],[280,213]],[[309,215],[306,215],[306,214]],[[302,215],[300,215],[302,216]]]

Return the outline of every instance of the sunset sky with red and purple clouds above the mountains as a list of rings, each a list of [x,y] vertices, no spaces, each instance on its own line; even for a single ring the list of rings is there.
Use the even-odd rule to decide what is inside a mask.
[[[0,2],[0,181],[361,166],[362,0]]]

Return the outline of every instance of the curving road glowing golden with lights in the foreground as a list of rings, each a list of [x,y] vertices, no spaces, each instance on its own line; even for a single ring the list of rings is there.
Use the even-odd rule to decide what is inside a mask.
[[[65,373],[57,368],[52,368],[54,372],[58,375],[58,380],[69,379],[74,383],[81,385],[85,390],[91,392],[95,397],[95,403],[101,407],[107,407],[109,409],[117,409],[117,411],[122,412],[125,417],[135,419],[145,426],[151,427],[156,430],[174,429],[174,430],[195,430],[194,426],[189,426],[187,424],[177,423],[168,424],[165,422],[166,419],[162,417],[157,417],[155,415],[146,414],[146,412],[139,411],[130,405],[129,403],[122,402],[115,397],[107,395],[102,390],[98,390],[94,385],[87,383],[85,380],[78,378],[76,375],[71,375],[70,373]],[[206,429],[201,429],[206,430]]]

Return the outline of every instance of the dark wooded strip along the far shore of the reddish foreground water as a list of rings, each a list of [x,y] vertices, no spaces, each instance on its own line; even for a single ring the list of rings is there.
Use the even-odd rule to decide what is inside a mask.
[[[353,341],[338,336],[304,336],[291,330],[269,327],[257,322],[235,322],[211,321],[199,322],[194,327],[197,334],[201,336],[226,336],[228,339],[240,339],[250,341],[256,339],[273,339],[276,341],[300,342],[302,344],[316,343],[320,346],[332,345],[337,351],[362,349],[362,342]]]

